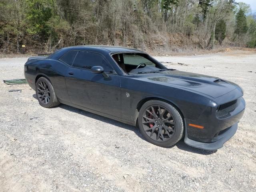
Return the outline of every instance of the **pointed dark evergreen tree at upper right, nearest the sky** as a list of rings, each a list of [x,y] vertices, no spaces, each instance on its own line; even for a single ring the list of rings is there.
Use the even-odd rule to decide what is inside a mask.
[[[246,22],[246,16],[244,13],[244,10],[242,8],[239,9],[238,13],[236,14],[236,29],[235,33],[238,36],[241,36],[242,34],[245,34],[248,30],[247,22]]]

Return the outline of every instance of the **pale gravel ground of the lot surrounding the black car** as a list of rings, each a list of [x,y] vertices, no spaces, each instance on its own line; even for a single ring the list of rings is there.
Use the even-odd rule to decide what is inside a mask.
[[[256,191],[256,52],[156,59],[244,88],[244,117],[223,148],[154,146],[133,126],[66,105],[42,108],[27,84],[0,83],[0,192]],[[23,78],[26,60],[0,59],[0,81]]]

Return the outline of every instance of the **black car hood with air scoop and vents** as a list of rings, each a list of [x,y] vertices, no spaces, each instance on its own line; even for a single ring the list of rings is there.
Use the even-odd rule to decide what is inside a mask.
[[[206,76],[202,74],[182,72],[178,70],[165,71],[156,74],[150,74],[152,76],[147,77],[147,81],[159,82],[169,86],[180,86],[189,90],[200,92],[217,98],[234,89],[238,85],[221,80],[218,77]]]

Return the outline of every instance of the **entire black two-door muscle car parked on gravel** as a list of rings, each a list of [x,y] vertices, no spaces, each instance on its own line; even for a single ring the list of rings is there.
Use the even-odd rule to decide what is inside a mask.
[[[28,84],[39,104],[67,104],[133,126],[168,147],[182,136],[190,146],[221,148],[236,132],[245,101],[238,85],[168,69],[137,49],[72,46],[28,58]]]

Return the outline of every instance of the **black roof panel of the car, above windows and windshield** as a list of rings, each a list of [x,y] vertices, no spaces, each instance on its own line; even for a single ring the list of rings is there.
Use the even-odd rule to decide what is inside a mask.
[[[66,48],[64,48],[66,49]],[[142,52],[141,50],[130,48],[130,47],[121,47],[121,46],[110,46],[110,45],[78,45],[70,46],[67,49],[80,49],[80,50],[98,50],[100,52]]]

